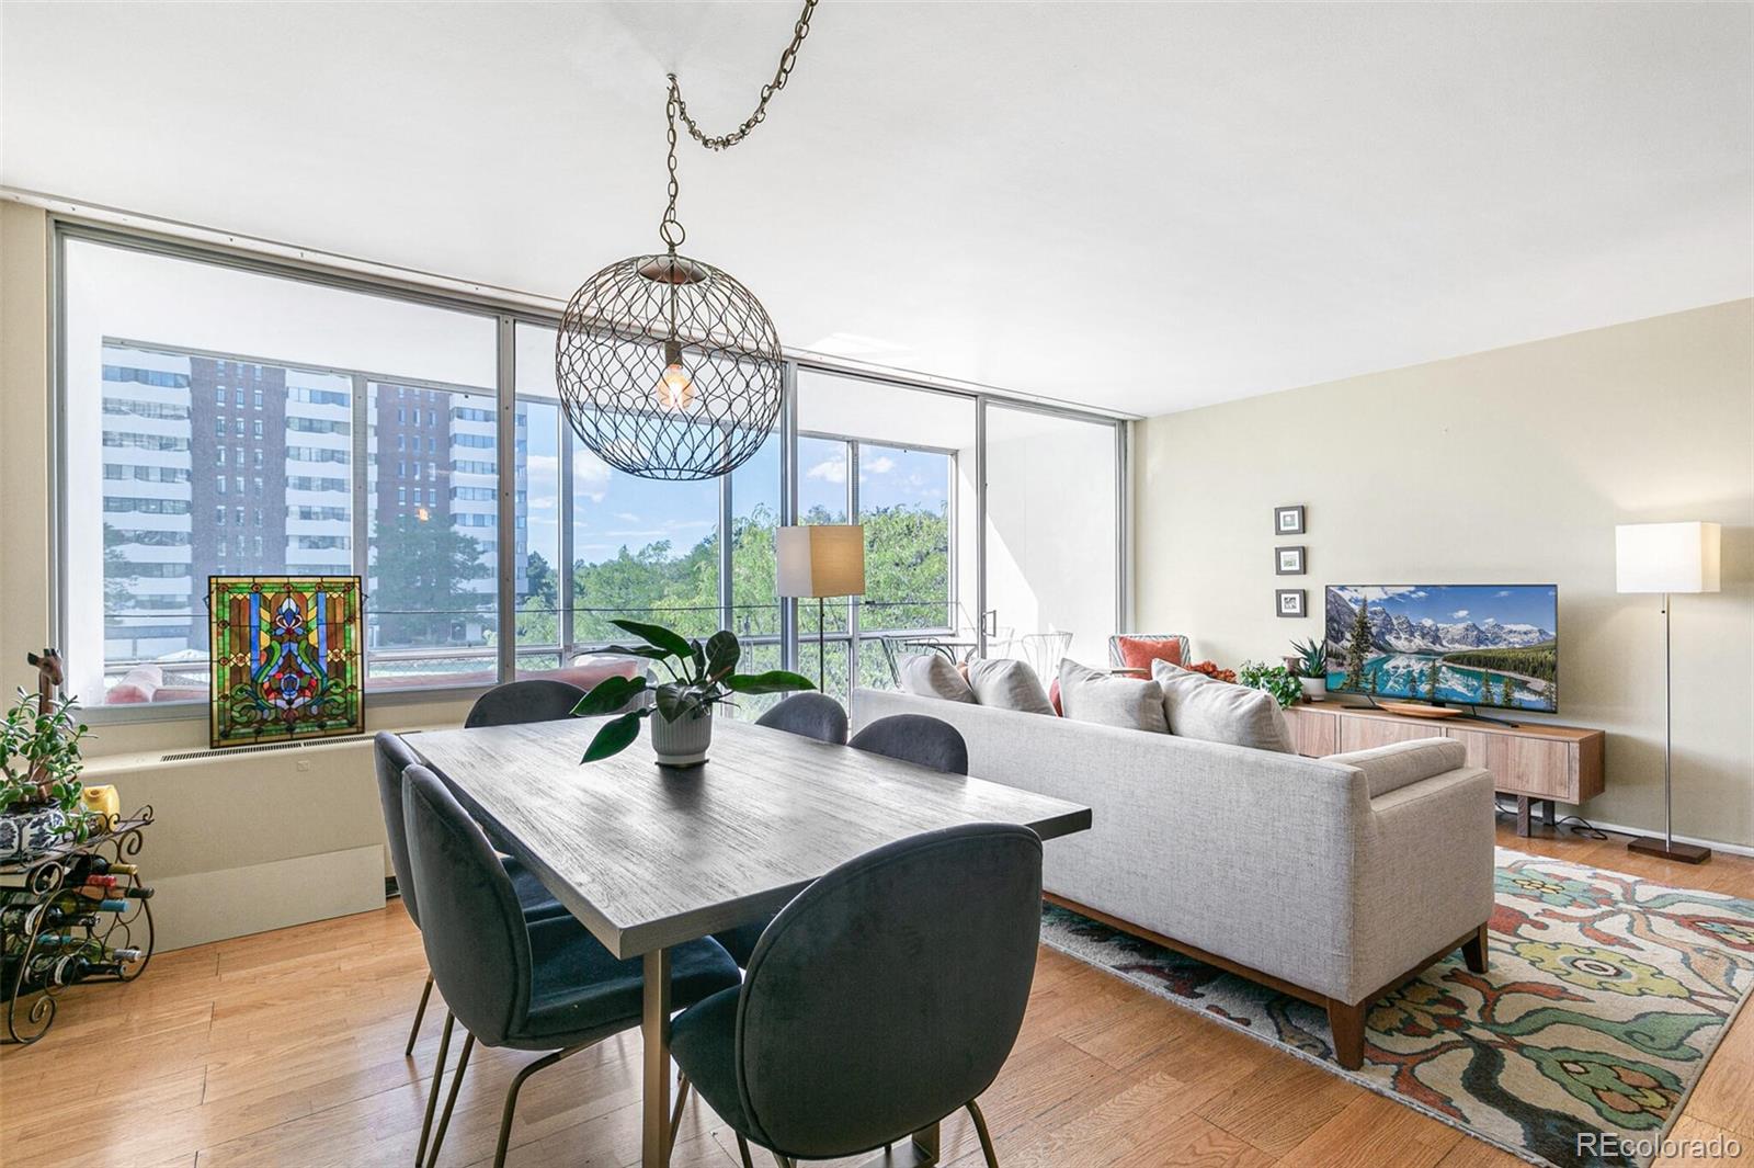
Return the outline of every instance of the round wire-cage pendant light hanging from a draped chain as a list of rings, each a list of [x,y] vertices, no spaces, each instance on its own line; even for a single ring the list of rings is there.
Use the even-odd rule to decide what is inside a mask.
[[[774,81],[737,130],[709,137],[670,74],[670,203],[661,254],[631,256],[572,295],[554,342],[567,421],[605,463],[642,479],[717,479],[766,442],[784,396],[779,333],[754,293],[728,272],[677,251],[677,121],[712,151],[737,146],[786,88],[817,0],[805,0]]]

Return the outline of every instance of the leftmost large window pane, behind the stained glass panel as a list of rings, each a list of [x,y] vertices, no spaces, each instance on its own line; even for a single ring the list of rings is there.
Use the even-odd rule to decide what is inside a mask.
[[[63,254],[70,691],[203,698],[207,577],[282,572],[365,577],[368,687],[493,680],[493,317]]]

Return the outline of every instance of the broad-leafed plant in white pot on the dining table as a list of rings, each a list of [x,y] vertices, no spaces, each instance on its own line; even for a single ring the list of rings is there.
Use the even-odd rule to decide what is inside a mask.
[[[591,693],[574,707],[574,716],[617,714],[617,717],[603,723],[581,763],[619,754],[638,737],[640,723],[651,717],[658,765],[698,766],[707,761],[707,747],[712,745],[712,707],[730,700],[733,693],[816,689],[810,679],[788,670],[738,673],[737,663],[744,651],[730,630],[719,630],[700,642],[661,624],[638,621],[612,621],[612,624],[645,644],[609,645],[598,652],[656,661],[670,673],[670,680],[654,686],[647,677],[605,677],[593,686]],[[644,700],[647,693],[651,702]],[[637,700],[640,705],[628,709]]]

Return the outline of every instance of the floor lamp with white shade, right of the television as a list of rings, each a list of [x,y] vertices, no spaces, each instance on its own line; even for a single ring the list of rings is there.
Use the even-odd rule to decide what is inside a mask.
[[[1710,859],[1712,849],[1675,842],[1670,605],[1675,593],[1717,591],[1719,542],[1721,530],[1715,523],[1633,523],[1614,528],[1615,591],[1663,595],[1663,837],[1642,835],[1626,847],[1689,865]]]

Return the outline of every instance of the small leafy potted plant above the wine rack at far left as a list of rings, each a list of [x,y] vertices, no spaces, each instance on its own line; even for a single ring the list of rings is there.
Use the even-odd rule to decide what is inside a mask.
[[[18,691],[0,717],[0,859],[47,851],[61,837],[84,838],[74,698]]]

